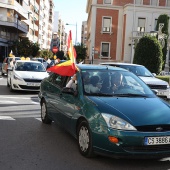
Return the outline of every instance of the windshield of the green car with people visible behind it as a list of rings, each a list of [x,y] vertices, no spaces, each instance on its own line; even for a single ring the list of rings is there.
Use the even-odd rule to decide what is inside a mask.
[[[86,95],[153,97],[152,90],[128,71],[83,70],[82,83]]]

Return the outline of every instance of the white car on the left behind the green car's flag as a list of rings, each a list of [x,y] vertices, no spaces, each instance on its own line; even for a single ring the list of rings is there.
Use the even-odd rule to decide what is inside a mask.
[[[39,91],[41,81],[48,76],[42,63],[17,60],[14,67],[8,70],[7,86],[10,87],[10,91]]]

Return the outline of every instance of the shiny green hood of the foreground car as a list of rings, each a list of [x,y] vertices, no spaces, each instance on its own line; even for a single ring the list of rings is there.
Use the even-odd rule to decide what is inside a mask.
[[[133,126],[170,124],[170,106],[155,98],[88,97],[101,113],[118,116]]]

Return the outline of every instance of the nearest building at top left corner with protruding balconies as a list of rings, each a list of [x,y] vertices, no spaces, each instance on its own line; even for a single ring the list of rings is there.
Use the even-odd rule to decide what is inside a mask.
[[[0,62],[9,56],[14,40],[26,37],[29,28],[28,0],[0,0]]]

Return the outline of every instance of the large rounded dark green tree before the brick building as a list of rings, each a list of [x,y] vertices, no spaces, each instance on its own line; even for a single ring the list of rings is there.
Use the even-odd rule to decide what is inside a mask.
[[[156,37],[144,36],[139,40],[134,54],[134,64],[141,64],[152,73],[162,71],[162,48]]]

